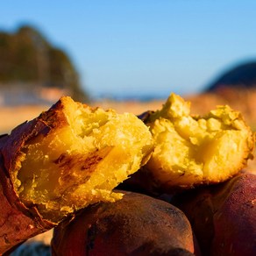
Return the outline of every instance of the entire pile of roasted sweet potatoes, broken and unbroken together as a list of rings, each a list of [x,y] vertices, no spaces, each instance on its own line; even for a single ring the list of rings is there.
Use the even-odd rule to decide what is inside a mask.
[[[238,112],[190,117],[172,96],[144,124],[78,105],[0,137],[1,254],[54,227],[53,255],[256,255],[256,175],[241,171],[255,138]]]

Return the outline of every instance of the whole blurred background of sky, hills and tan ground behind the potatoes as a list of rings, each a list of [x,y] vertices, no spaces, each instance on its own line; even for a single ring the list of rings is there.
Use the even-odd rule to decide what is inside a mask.
[[[5,1],[0,132],[63,95],[139,114],[171,92],[198,114],[229,103],[254,129],[255,14],[253,0]]]

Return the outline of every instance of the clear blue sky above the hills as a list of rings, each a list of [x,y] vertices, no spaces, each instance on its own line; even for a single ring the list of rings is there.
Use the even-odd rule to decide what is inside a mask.
[[[0,29],[35,25],[93,96],[200,92],[256,59],[255,0],[11,0]]]

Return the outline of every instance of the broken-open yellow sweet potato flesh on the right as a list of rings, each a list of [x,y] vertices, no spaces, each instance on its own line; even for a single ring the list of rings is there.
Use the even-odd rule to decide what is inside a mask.
[[[225,181],[252,159],[254,134],[227,105],[192,116],[190,103],[171,94],[145,122],[156,144],[146,169],[161,184],[190,188]]]

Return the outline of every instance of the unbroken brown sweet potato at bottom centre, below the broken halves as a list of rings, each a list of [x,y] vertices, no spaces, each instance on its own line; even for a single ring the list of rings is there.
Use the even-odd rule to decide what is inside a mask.
[[[53,231],[53,255],[194,255],[190,224],[173,205],[132,192],[82,210]]]

